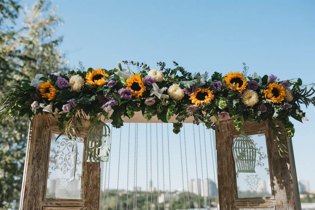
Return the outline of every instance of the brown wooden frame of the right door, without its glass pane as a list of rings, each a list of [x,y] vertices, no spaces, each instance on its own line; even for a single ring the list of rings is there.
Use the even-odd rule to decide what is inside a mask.
[[[232,153],[232,136],[239,135],[231,119],[219,122],[220,131],[216,131],[216,149],[218,160],[218,189],[221,210],[239,208],[276,207],[277,210],[301,209],[299,205],[296,171],[292,146],[288,141],[288,153],[283,157],[278,154],[278,146],[273,141],[273,130],[267,122],[244,122],[243,130],[246,134],[265,133],[268,151],[270,176],[272,177],[271,198],[242,198],[237,199],[235,163]],[[291,156],[291,157],[290,157]],[[292,158],[293,157],[293,158]],[[292,162],[293,161],[293,162]],[[297,204],[296,204],[297,202]]]

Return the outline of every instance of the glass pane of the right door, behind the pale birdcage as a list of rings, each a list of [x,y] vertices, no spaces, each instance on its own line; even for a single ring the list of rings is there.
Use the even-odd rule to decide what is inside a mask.
[[[237,198],[271,197],[271,182],[265,134],[233,139]],[[252,210],[252,209],[251,209]]]

